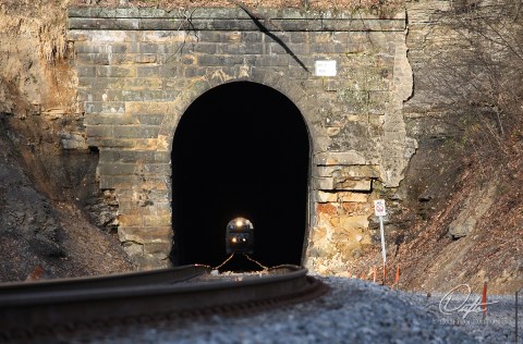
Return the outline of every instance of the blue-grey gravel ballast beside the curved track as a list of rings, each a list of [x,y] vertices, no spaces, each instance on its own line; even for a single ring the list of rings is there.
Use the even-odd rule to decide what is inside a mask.
[[[376,283],[318,277],[314,300],[241,317],[214,316],[82,333],[66,343],[514,343],[514,295],[489,296],[487,317],[463,310],[477,295],[405,293]],[[446,299],[449,299],[447,295]],[[461,306],[464,305],[464,306]],[[448,315],[441,312],[440,308]],[[455,310],[454,310],[455,309]],[[520,306],[520,314],[521,310]],[[520,320],[521,324],[521,320]],[[521,332],[521,330],[520,330]],[[521,339],[520,339],[521,343]]]

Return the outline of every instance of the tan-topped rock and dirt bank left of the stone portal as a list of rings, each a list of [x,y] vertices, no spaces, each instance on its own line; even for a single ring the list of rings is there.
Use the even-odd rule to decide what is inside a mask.
[[[82,136],[68,2],[0,4],[0,281],[133,269]]]

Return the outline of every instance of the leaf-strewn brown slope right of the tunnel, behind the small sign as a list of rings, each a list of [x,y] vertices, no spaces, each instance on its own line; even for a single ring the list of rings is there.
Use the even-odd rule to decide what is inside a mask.
[[[404,183],[424,189],[415,195],[417,205],[412,195],[412,208],[402,214],[414,221],[408,221],[406,237],[390,261],[400,265],[404,287],[441,292],[469,284],[476,293],[484,282],[489,293],[523,287],[522,134],[514,133],[504,147],[503,157],[450,145],[447,156],[433,150],[412,162]],[[431,159],[441,159],[439,168]],[[415,171],[423,165],[431,169]]]

